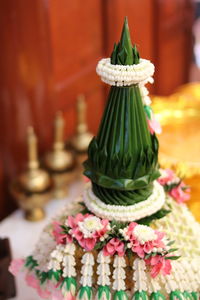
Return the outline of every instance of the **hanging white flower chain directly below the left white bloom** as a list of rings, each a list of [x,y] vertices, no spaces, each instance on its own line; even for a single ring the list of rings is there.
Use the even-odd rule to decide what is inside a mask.
[[[94,256],[92,253],[85,253],[82,257],[81,279],[82,286],[92,287]]]

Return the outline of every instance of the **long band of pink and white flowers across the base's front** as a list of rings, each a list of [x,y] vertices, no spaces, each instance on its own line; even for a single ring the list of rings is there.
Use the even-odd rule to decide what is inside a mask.
[[[74,217],[69,216],[65,225],[60,225],[60,228],[62,230],[57,229],[56,235],[55,229],[53,230],[57,247],[64,247],[63,241],[69,245],[74,242],[86,251],[102,250],[105,257],[115,254],[118,257],[123,257],[126,252],[129,252],[144,259],[146,264],[150,265],[152,276],[159,272],[169,274],[171,271],[169,260],[178,258],[169,256],[169,253],[177,249],[170,249],[170,243],[163,232],[135,222],[109,222],[107,219],[101,219],[92,214],[79,213]],[[54,271],[60,270],[63,260],[62,255],[61,257],[58,255],[60,253],[58,250],[56,249],[51,254],[52,259],[49,268]],[[156,261],[157,264],[155,264]]]

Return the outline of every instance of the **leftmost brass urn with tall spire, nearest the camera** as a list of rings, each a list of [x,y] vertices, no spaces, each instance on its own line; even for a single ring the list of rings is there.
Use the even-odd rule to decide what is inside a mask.
[[[40,167],[37,151],[37,137],[33,127],[27,130],[27,169],[11,184],[11,193],[24,210],[29,221],[39,221],[45,217],[44,206],[51,197],[51,179]]]

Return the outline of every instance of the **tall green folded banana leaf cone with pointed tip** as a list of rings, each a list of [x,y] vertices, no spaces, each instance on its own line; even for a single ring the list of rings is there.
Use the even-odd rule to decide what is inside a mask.
[[[125,19],[121,40],[114,46],[111,64],[139,63]],[[138,84],[112,86],[96,137],[88,148],[84,174],[104,203],[133,205],[152,193],[157,168],[158,141],[151,135]]]

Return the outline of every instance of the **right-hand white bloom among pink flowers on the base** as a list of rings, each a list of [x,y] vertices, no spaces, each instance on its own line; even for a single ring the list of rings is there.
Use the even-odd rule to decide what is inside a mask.
[[[157,239],[157,235],[155,234],[154,230],[149,226],[137,225],[135,226],[133,233],[140,244],[144,244],[145,242],[154,241]]]

